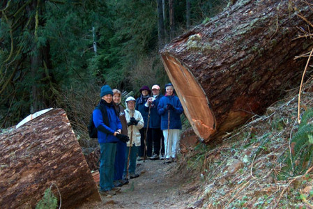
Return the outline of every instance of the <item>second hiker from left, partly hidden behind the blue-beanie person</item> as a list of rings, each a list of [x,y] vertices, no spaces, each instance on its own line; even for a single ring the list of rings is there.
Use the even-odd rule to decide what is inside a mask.
[[[113,104],[115,107],[116,113],[119,115],[119,119],[122,123],[122,134],[127,135],[127,121],[125,118],[125,109],[121,105],[121,91],[118,89],[113,89]],[[128,184],[128,180],[123,179],[123,171],[125,164],[125,153],[126,153],[126,143],[123,141],[118,141],[116,144],[116,155],[114,162],[114,186],[121,187],[125,184]]]

